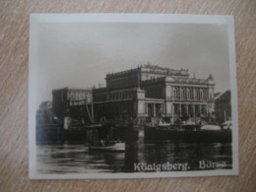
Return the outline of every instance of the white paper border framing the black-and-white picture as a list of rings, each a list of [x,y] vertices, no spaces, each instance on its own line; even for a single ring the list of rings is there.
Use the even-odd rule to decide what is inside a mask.
[[[37,72],[37,27],[39,23],[185,23],[226,24],[228,27],[229,73],[232,117],[232,169],[170,171],[153,173],[68,173],[40,174],[36,172],[35,112]],[[234,27],[232,16],[167,15],[167,14],[31,14],[30,17],[30,64],[29,64],[29,175],[32,179],[119,179],[216,176],[238,174],[238,108],[236,64],[234,48]]]

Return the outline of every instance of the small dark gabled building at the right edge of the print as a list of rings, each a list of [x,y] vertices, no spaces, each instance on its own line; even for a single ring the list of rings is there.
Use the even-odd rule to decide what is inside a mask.
[[[231,93],[225,91],[215,97],[216,122],[219,124],[231,120]]]

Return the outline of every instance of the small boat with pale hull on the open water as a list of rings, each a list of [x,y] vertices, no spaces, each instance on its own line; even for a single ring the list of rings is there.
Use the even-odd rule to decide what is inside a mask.
[[[104,142],[100,141],[89,147],[91,151],[102,151],[102,152],[125,152],[124,142]]]

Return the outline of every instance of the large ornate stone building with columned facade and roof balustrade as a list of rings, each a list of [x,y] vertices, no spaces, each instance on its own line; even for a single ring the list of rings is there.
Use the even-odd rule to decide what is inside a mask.
[[[211,117],[215,83],[190,78],[187,69],[154,65],[107,74],[106,87],[93,90],[96,118]]]

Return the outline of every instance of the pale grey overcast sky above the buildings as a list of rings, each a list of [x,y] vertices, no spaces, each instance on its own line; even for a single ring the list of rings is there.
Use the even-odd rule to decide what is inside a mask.
[[[105,84],[108,72],[152,63],[213,74],[229,89],[227,27],[213,24],[58,23],[38,27],[37,104],[51,91]]]

